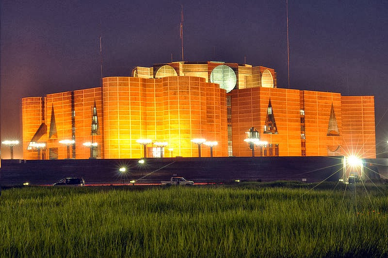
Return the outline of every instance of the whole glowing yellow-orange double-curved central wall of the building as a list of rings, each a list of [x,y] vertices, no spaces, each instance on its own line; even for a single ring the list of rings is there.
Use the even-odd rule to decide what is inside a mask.
[[[193,138],[218,141],[214,156],[227,155],[225,90],[190,76],[103,79],[105,158],[139,158],[138,139],[165,141],[174,156],[196,156]],[[224,130],[224,131],[222,131]],[[153,145],[149,144],[149,151]],[[202,156],[210,151],[202,147]]]

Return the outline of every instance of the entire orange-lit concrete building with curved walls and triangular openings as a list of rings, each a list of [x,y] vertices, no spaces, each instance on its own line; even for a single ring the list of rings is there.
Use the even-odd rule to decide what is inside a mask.
[[[268,142],[256,156],[376,155],[373,96],[277,88],[274,69],[246,64],[136,67],[131,77],[103,78],[102,87],[23,98],[21,109],[25,159],[66,158],[63,139],[75,140],[77,159],[140,158],[137,140],[146,138],[167,142],[163,157],[198,156],[193,138],[217,141],[213,156],[250,156],[251,127]],[[147,156],[161,156],[146,147]]]

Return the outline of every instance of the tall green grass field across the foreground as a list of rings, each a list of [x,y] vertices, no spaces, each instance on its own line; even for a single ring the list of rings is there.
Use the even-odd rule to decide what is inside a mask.
[[[0,257],[387,257],[388,187],[25,187]]]

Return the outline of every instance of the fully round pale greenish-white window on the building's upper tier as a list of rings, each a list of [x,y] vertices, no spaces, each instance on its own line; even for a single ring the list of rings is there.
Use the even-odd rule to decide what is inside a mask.
[[[217,66],[211,71],[210,82],[219,84],[220,88],[229,92],[236,86],[236,73],[226,65]]]

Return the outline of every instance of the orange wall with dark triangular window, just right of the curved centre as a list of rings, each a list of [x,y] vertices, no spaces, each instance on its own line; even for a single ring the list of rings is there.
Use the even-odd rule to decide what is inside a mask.
[[[233,155],[251,156],[244,142],[250,127],[258,129],[260,139],[278,144],[279,156],[301,155],[299,90],[281,88],[247,88],[231,91]],[[277,134],[264,134],[271,100]],[[255,156],[259,156],[259,148]]]

